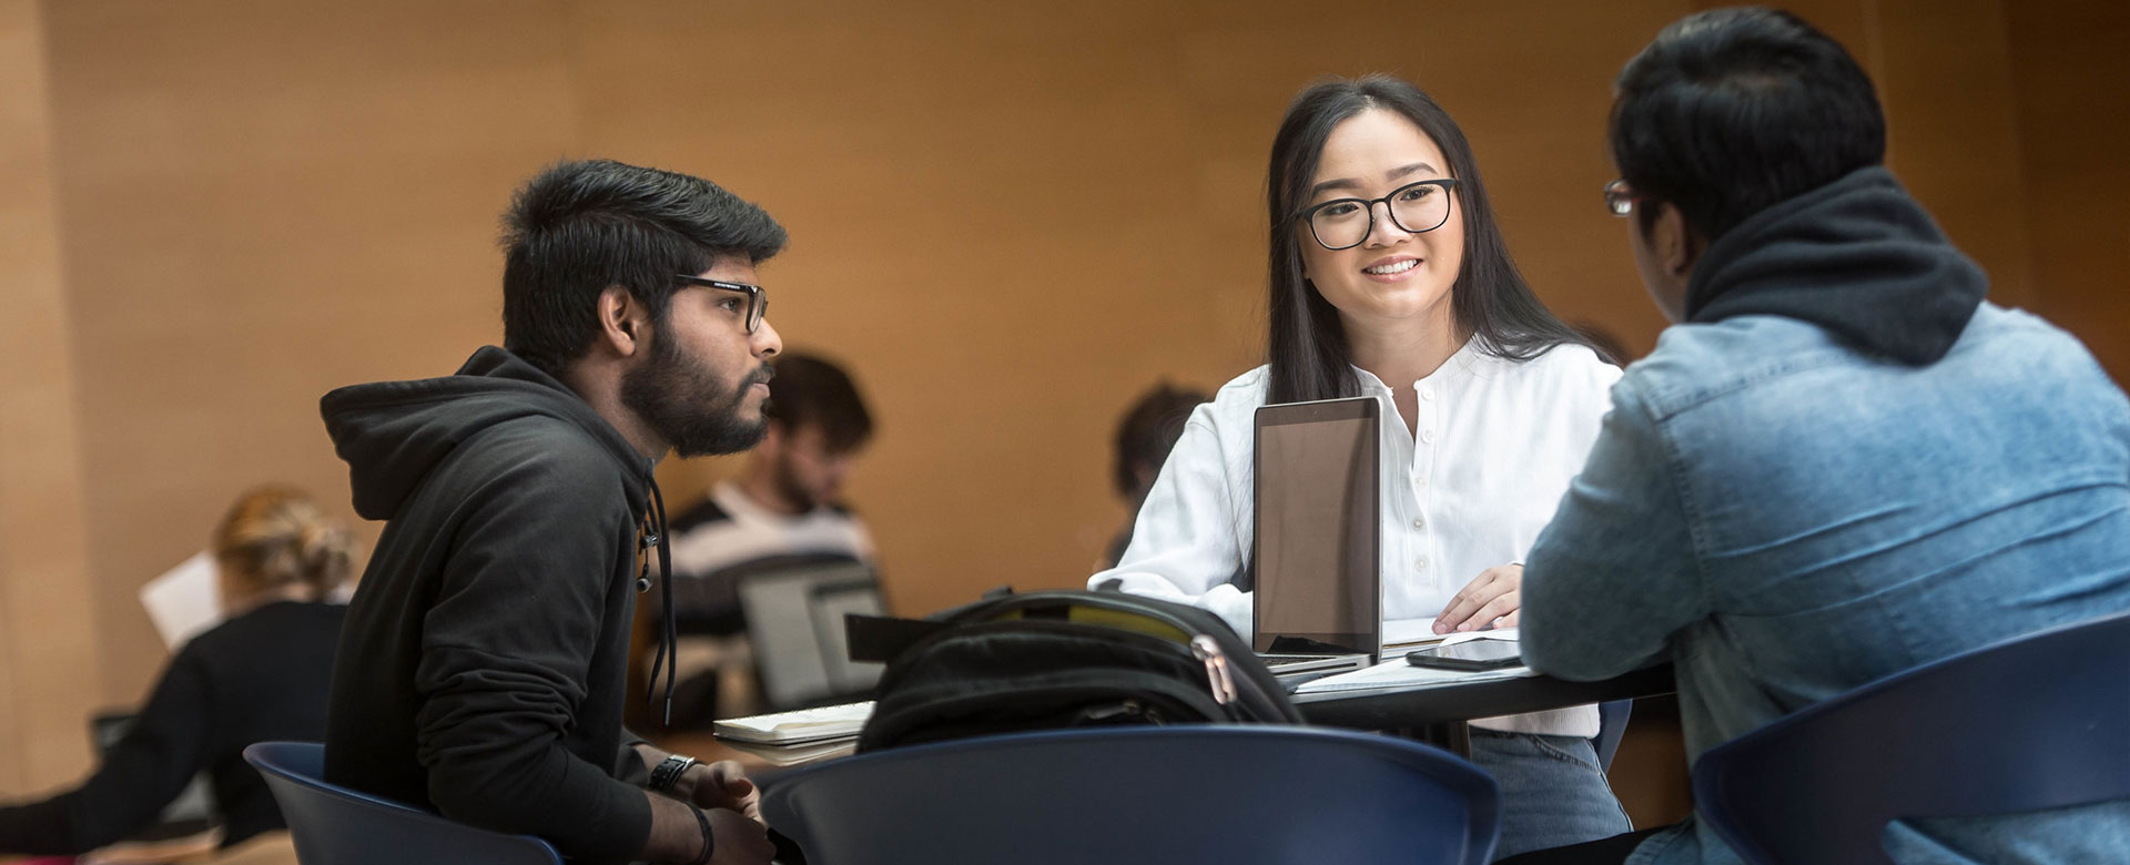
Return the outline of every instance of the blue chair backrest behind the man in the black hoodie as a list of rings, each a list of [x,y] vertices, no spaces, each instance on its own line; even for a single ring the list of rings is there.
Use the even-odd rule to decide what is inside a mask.
[[[245,761],[266,778],[302,865],[560,865],[532,835],[503,835],[432,812],[326,784],[326,746],[260,741]]]

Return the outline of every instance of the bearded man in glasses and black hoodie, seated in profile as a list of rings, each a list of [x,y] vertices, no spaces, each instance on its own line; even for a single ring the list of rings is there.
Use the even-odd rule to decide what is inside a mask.
[[[388,520],[347,611],[326,780],[547,837],[573,861],[765,863],[754,786],[622,729],[652,467],[763,437],[754,268],[784,247],[697,177],[564,162],[505,215],[503,347],[322,401]],[[671,629],[667,629],[671,633]]]

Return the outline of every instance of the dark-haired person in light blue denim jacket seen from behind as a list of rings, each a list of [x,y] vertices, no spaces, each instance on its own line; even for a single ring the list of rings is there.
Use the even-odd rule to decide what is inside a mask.
[[[1672,660],[1687,756],[1872,680],[2130,609],[2130,403],[1883,168],[1864,70],[1725,9],[1621,72],[1606,190],[1676,326],[1523,575],[1523,656]],[[1975,712],[1989,712],[1977,695]],[[1898,735],[1887,731],[1887,735]],[[2130,803],[1887,831],[1894,861],[2119,861]],[[1734,863],[1676,827],[1514,861]]]

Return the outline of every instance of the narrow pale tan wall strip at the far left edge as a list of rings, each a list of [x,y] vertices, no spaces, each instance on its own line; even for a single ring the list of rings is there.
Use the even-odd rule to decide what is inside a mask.
[[[81,773],[102,699],[38,15],[0,0],[0,790]]]

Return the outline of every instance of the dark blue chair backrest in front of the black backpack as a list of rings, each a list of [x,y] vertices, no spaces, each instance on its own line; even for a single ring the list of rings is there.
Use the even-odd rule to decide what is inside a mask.
[[[1284,724],[892,748],[765,782],[812,865],[1487,863],[1500,790],[1438,748]]]

